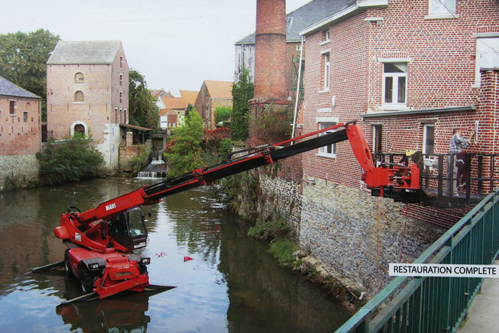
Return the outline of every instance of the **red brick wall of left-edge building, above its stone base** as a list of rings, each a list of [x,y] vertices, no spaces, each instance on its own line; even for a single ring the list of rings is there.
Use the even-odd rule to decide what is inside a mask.
[[[15,116],[10,115],[10,101],[16,102]],[[0,96],[0,155],[38,153],[40,122],[40,99]]]

